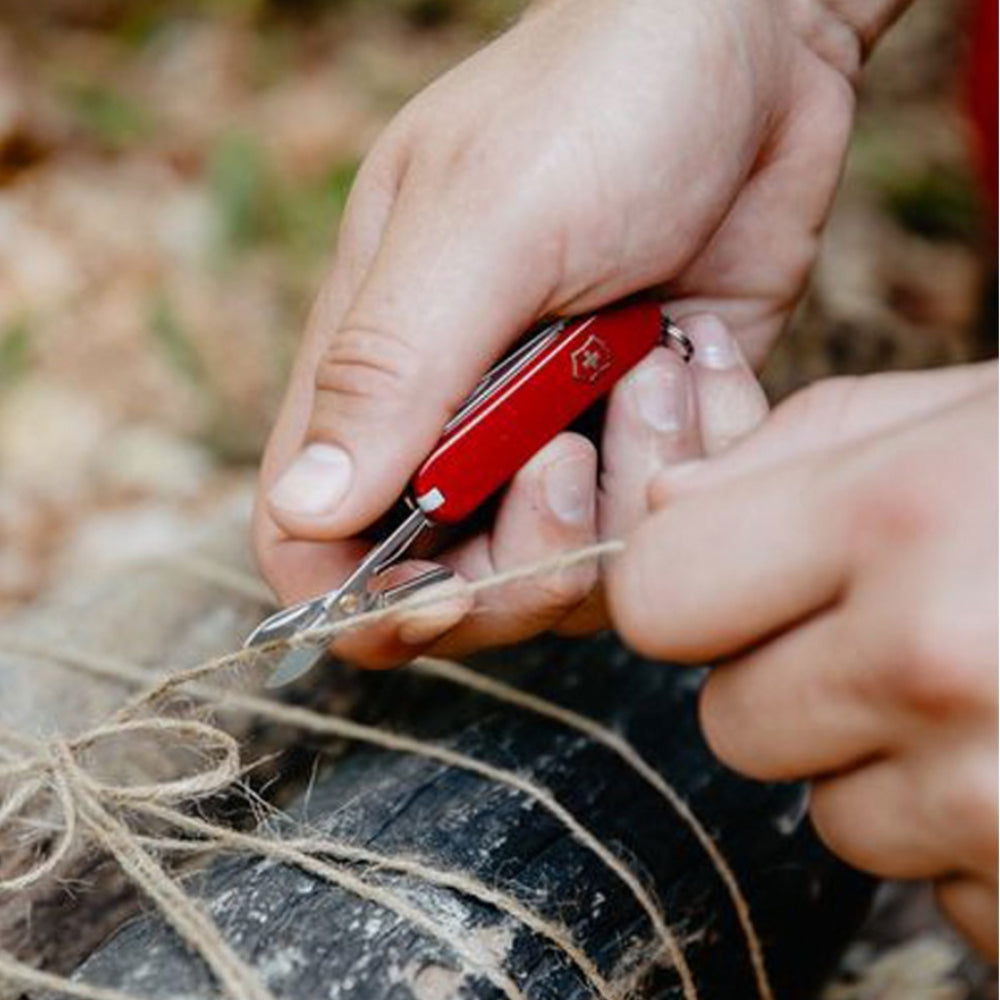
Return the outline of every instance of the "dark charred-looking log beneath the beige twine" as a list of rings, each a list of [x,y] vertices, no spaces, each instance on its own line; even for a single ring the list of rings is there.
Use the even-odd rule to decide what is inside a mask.
[[[480,666],[621,733],[690,803],[750,902],[775,993],[808,997],[863,918],[869,881],[819,845],[802,787],[756,784],[721,767],[698,732],[702,672],[642,661],[611,637],[545,639]],[[409,671],[323,680],[358,689],[359,717],[414,733],[530,776],[550,788],[640,874],[662,902],[703,1000],[757,995],[732,901],[690,831],[663,798],[608,749],[491,698]],[[300,748],[301,751],[301,748]],[[537,803],[507,787],[418,757],[354,746],[290,811],[315,829],[383,853],[419,857],[499,885],[561,921],[606,976],[650,951],[634,896]],[[454,939],[502,943],[504,966],[531,1000],[590,995],[566,957],[534,932],[467,896],[366,873],[443,924]],[[379,906],[300,870],[260,858],[215,861],[189,883],[233,946],[280,997],[293,1000],[493,1000],[458,970],[441,941]],[[148,997],[209,997],[200,959],[159,918],[124,926],[78,976]],[[681,996],[674,970],[651,968],[630,993]]]

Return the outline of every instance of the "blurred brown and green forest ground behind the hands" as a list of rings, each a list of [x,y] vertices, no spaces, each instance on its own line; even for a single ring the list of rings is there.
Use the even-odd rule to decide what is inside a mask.
[[[359,160],[520,6],[0,0],[0,614],[246,507]],[[775,397],[995,349],[963,17],[868,69]]]

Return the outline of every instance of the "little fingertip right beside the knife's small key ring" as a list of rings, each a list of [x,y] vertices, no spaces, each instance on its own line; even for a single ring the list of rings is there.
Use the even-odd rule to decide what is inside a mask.
[[[683,329],[694,344],[691,365],[702,449],[712,456],[756,430],[768,413],[767,396],[736,338],[718,317],[691,316]]]

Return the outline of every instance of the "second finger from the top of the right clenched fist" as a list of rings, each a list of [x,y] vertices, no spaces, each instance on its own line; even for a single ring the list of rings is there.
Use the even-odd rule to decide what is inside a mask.
[[[870,656],[839,609],[716,667],[701,726],[724,764],[761,781],[839,771],[887,749],[891,716],[857,671]]]

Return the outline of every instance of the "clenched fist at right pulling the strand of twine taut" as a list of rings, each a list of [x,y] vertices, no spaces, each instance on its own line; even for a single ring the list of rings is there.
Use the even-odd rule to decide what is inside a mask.
[[[716,661],[719,758],[812,779],[831,849],[930,878],[997,934],[996,366],[834,380],[662,473],[609,600],[648,655]]]

